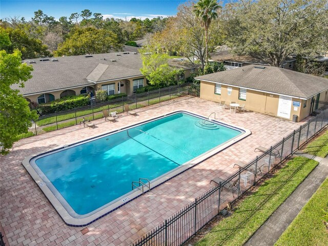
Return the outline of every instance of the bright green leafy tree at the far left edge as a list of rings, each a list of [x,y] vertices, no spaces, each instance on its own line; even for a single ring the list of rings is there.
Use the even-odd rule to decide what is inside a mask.
[[[21,53],[13,54],[0,51],[0,154],[9,153],[19,134],[27,133],[32,120],[37,118],[31,112],[28,101],[13,86],[24,87],[24,81],[30,79],[33,68],[22,64]]]

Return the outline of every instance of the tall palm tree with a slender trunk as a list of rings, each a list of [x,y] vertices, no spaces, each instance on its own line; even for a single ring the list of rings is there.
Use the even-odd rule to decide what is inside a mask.
[[[208,31],[211,25],[212,19],[217,18],[216,10],[222,8],[217,4],[216,0],[199,0],[194,5],[194,13],[197,17],[201,18],[201,23],[205,29],[205,57],[208,61]]]

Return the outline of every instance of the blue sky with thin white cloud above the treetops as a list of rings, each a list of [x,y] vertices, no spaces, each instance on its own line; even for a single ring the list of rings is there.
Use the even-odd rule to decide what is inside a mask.
[[[0,18],[16,16],[30,20],[34,16],[34,11],[40,9],[44,14],[59,19],[61,16],[69,17],[71,13],[89,9],[92,13],[103,14],[104,18],[145,19],[175,15],[178,5],[184,2],[186,0],[0,0]]]

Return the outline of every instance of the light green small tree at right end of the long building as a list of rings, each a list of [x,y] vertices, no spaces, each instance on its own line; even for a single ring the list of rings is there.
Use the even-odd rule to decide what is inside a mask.
[[[140,54],[142,59],[140,71],[151,85],[166,87],[175,84],[176,71],[169,66],[167,54],[156,53],[154,47],[142,48]]]

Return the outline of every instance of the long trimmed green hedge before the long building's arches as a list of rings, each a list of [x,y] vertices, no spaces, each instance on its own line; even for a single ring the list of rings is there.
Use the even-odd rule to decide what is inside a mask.
[[[78,96],[66,96],[61,99],[51,101],[46,104],[39,104],[37,111],[42,114],[52,114],[55,112],[66,111],[77,107],[83,107],[90,104],[89,96],[78,95]]]

